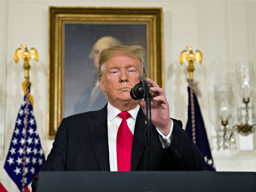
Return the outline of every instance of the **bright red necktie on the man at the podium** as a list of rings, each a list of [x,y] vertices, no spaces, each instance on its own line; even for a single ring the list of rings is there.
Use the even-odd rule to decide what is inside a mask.
[[[122,122],[116,136],[117,170],[130,171],[133,134],[127,125],[126,119],[130,118],[131,114],[120,112],[118,116],[122,118]]]

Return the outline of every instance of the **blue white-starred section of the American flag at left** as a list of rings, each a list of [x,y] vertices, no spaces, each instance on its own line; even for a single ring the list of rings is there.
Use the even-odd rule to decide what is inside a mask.
[[[27,93],[29,92],[30,82],[27,85]],[[44,162],[44,151],[36,130],[33,107],[26,94],[18,112],[4,169],[23,192],[38,174]]]

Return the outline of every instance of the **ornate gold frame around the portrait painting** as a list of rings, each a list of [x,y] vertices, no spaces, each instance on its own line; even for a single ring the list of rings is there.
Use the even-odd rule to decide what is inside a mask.
[[[162,8],[49,7],[48,138],[64,118],[65,24],[145,25],[148,77],[164,88]]]

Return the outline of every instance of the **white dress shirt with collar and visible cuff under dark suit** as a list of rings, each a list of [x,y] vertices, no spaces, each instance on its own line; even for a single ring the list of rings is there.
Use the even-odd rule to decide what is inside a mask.
[[[116,135],[118,128],[122,122],[122,118],[118,116],[121,112],[118,108],[115,108],[108,102],[108,150],[109,150],[109,162],[110,162],[110,171],[117,171],[117,156],[116,156]],[[136,108],[129,111],[131,117],[126,120],[128,127],[130,128],[132,134],[134,134],[134,127],[140,106],[137,105]],[[146,126],[145,126],[146,128]],[[163,148],[167,148],[171,144],[172,140],[172,129],[173,122],[170,133],[168,136],[164,136],[158,128],[156,130],[159,132],[159,138],[162,142]],[[145,137],[146,139],[146,137]]]

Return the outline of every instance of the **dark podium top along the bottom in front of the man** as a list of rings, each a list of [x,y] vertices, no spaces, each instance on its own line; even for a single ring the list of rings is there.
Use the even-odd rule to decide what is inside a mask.
[[[256,192],[256,172],[40,172],[37,192]]]

